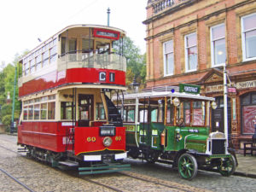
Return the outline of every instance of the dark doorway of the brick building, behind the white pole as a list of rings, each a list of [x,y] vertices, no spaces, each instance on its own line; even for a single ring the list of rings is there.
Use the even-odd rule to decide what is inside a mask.
[[[224,132],[224,98],[218,96],[215,98],[217,108],[212,109],[212,132],[220,131]],[[231,109],[230,109],[230,98],[228,99],[228,131],[229,137],[231,136]]]

